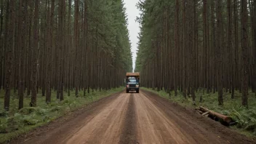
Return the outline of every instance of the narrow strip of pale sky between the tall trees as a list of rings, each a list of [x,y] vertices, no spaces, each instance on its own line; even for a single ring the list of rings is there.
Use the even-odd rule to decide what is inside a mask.
[[[132,43],[132,66],[135,68],[135,58],[137,50],[137,36],[140,32],[139,23],[135,22],[136,17],[140,15],[139,9],[137,9],[136,4],[138,0],[124,0],[124,7],[127,8],[128,16],[128,29],[129,29],[129,40]]]

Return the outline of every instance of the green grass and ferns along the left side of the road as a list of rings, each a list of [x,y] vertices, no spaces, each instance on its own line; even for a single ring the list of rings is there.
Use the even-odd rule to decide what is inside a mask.
[[[56,99],[56,92],[52,92],[52,103],[46,104],[45,97],[41,95],[41,92],[37,95],[37,107],[29,107],[31,102],[31,96],[24,97],[24,108],[18,110],[18,97],[17,93],[12,92],[10,100],[9,112],[4,111],[4,91],[0,91],[0,143],[4,143],[7,140],[17,137],[25,132],[29,132],[36,127],[40,127],[44,124],[53,121],[60,116],[63,116],[71,111],[76,111],[89,103],[93,103],[100,100],[103,97],[112,95],[113,93],[120,92],[124,87],[116,89],[95,91],[86,93],[83,96],[83,92],[79,92],[79,97],[75,96],[75,91],[71,92],[71,96],[68,96],[67,92],[64,92],[64,100]]]

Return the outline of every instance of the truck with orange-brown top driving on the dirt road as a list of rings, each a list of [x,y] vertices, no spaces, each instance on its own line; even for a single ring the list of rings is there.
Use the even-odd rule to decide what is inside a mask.
[[[140,92],[140,73],[127,73],[126,76],[126,90]]]

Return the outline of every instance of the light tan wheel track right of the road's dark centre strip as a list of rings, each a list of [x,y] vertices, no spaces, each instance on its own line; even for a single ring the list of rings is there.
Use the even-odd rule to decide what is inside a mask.
[[[196,143],[142,93],[136,95],[135,103],[139,143]]]

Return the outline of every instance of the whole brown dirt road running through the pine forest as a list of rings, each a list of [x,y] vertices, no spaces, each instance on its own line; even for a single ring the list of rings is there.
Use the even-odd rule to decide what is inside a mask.
[[[254,143],[151,92],[117,93],[11,143]]]

